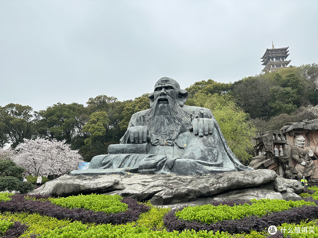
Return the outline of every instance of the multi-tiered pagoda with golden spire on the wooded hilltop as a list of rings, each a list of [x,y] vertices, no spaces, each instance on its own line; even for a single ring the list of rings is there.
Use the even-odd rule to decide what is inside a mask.
[[[272,49],[266,49],[266,52],[264,53],[263,57],[261,57],[262,65],[265,65],[263,72],[266,71],[276,71],[280,68],[285,68],[287,65],[291,62],[291,60],[286,60],[286,58],[289,56],[287,50],[289,46],[285,48],[274,48],[274,44],[272,41]]]

